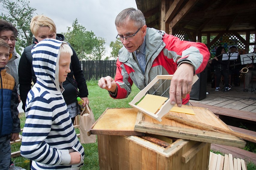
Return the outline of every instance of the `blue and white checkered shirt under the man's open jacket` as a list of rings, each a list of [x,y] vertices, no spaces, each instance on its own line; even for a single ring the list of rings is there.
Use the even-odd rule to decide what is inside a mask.
[[[134,51],[135,56],[139,62],[139,66],[142,69],[143,74],[145,74],[145,68],[146,68],[145,51],[146,51],[146,41],[145,41],[145,37],[144,37],[144,41],[143,41],[142,45],[139,46],[139,48],[136,51]]]

